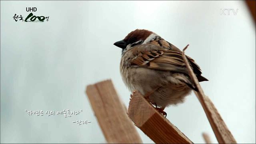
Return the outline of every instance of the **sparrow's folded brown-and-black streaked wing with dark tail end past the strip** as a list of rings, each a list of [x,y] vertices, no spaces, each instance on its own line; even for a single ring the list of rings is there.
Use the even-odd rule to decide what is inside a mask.
[[[202,72],[196,62],[192,58],[188,56],[186,57],[190,66],[192,66],[192,69],[196,76],[199,76],[199,78],[204,78],[201,76]],[[182,52],[163,48],[140,50],[140,53],[131,60],[130,64],[131,66],[135,67],[147,67],[155,70],[164,70],[188,74],[188,70],[182,58]]]

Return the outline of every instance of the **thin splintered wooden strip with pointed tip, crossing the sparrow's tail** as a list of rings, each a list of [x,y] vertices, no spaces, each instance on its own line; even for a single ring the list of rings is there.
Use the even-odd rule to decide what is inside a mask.
[[[194,74],[192,68],[188,64],[188,60],[184,53],[186,48],[188,48],[188,45],[183,49],[183,60],[186,63],[186,67],[188,68],[190,78],[192,78],[192,80],[196,84],[196,87],[198,88],[198,92],[194,92],[204,109],[204,112],[210,122],[210,125],[212,126],[212,130],[218,142],[220,144],[236,144],[236,140],[234,139],[231,132],[228,130],[228,127],[226,126],[224,120],[222,120],[218,110],[215,108],[210,98],[208,98],[208,96],[204,94],[204,91],[202,90],[202,87],[200,86],[198,79],[196,78],[196,75]]]

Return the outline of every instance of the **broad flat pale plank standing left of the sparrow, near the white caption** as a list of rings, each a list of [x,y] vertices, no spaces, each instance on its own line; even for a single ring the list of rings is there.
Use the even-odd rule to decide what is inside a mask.
[[[142,143],[111,80],[87,86],[86,94],[108,143]]]

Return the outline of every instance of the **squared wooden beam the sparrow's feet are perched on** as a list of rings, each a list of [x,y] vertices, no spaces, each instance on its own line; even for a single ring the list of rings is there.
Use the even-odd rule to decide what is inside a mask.
[[[191,140],[164,118],[138,91],[132,95],[128,115],[156,144],[192,144]]]

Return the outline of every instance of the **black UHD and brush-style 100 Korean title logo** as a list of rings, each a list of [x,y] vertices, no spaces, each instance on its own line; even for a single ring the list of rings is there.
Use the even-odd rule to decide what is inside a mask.
[[[26,11],[30,12],[30,14],[28,14],[28,16],[26,16],[25,19],[23,19],[24,17],[20,14],[14,14],[14,16],[12,17],[16,22],[22,21],[22,22],[45,22],[45,21],[49,21],[49,16],[35,16],[33,15],[32,12],[36,12],[37,8],[30,8],[30,7],[26,7]]]

